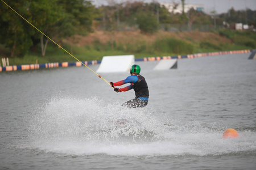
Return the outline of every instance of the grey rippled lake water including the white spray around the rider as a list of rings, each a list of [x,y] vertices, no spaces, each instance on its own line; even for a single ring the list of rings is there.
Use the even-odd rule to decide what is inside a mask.
[[[256,169],[248,57],[180,59],[163,71],[136,62],[150,99],[135,109],[121,108],[133,90],[116,93],[86,67],[0,73],[0,169]],[[223,139],[229,128],[239,137]]]

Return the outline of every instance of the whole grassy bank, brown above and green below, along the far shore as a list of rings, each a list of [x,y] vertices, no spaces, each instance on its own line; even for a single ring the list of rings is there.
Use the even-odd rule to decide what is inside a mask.
[[[103,56],[134,54],[135,58],[176,56],[256,48],[256,33],[251,31],[161,32],[144,35],[140,32],[95,31],[88,36],[74,36],[60,44],[80,61],[101,60]],[[0,46],[1,50],[4,49]],[[2,58],[2,56],[1,56]],[[49,42],[46,56],[40,45],[23,58],[9,58],[10,65],[49,62],[75,62],[76,59]]]

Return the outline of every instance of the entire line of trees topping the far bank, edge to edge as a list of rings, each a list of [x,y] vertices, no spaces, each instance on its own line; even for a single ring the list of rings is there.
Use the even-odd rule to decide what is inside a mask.
[[[96,7],[84,0],[5,0],[28,22],[57,43],[75,34],[88,35],[96,28],[105,31],[119,31],[122,27],[140,29],[142,33],[154,33],[160,25],[203,25],[243,23],[256,26],[256,11],[247,8],[245,11],[230,9],[226,14],[212,15],[191,8],[187,14],[169,12],[157,2],[142,1],[115,3]],[[2,2],[1,2],[2,3]],[[184,0],[181,1],[184,6]],[[174,3],[174,8],[177,3]],[[23,57],[29,50],[40,46],[42,56],[46,54],[49,39],[32,28],[4,3],[0,6],[0,55]],[[168,27],[166,26],[166,30]]]

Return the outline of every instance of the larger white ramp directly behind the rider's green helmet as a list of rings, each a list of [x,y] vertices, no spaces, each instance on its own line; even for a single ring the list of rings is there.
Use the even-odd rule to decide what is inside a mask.
[[[130,71],[134,65],[134,55],[104,56],[97,73],[114,73]]]

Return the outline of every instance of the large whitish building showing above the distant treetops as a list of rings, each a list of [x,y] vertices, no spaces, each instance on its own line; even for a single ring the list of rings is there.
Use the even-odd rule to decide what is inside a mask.
[[[176,6],[177,5],[177,6]],[[182,13],[182,5],[181,3],[176,4],[175,3],[160,3],[160,6],[164,6],[168,9],[169,12],[174,12],[176,13]],[[175,8],[176,6],[176,8]],[[184,5],[184,12],[188,12],[191,8],[193,8],[196,11],[204,11],[204,6],[203,5],[193,5],[193,4],[185,4]]]

